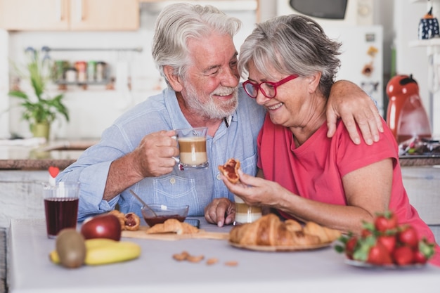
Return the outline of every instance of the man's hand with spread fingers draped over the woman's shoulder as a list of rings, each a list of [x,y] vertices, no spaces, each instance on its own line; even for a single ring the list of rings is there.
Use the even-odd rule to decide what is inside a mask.
[[[356,84],[345,80],[335,82],[330,91],[327,104],[328,137],[335,134],[338,117],[341,117],[356,145],[361,143],[356,123],[367,145],[379,141],[379,131],[384,131],[380,113],[370,96]]]

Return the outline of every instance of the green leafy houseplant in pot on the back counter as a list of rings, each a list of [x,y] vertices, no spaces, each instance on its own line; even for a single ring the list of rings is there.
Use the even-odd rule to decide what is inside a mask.
[[[29,61],[26,65],[27,74],[20,74],[29,77],[34,95],[29,95],[21,90],[9,91],[9,96],[19,98],[20,105],[24,108],[22,118],[30,123],[30,131],[34,137],[49,138],[50,126],[58,115],[69,121],[69,113],[63,104],[63,93],[51,98],[46,92],[46,82],[49,79],[50,60],[40,58],[39,51],[27,48],[26,56]]]

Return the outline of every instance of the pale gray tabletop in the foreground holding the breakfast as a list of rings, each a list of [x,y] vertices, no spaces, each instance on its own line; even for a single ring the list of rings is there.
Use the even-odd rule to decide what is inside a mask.
[[[201,228],[226,232],[201,219]],[[440,292],[440,268],[384,270],[344,263],[332,247],[303,252],[254,252],[226,240],[127,239],[142,247],[134,261],[67,269],[48,260],[56,240],[44,219],[13,219],[9,228],[8,284],[12,293],[40,292]],[[178,262],[183,250],[216,257],[219,263]],[[238,261],[238,266],[226,266]],[[398,291],[399,289],[399,291]]]

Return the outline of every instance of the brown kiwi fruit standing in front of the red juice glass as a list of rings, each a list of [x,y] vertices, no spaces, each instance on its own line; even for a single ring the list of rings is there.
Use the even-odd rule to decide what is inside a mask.
[[[86,259],[84,236],[74,228],[65,228],[56,237],[56,252],[61,265],[66,268],[78,268]]]

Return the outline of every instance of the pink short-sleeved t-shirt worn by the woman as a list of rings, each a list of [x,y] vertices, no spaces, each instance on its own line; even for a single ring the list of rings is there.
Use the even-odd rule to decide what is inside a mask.
[[[351,171],[368,166],[382,159],[393,159],[393,184],[389,209],[394,211],[400,223],[410,223],[420,237],[434,241],[434,235],[418,212],[410,205],[403,187],[396,139],[382,120],[384,133],[373,145],[355,145],[342,122],[332,138],[327,137],[324,123],[303,145],[296,148],[292,131],[271,122],[266,115],[258,136],[258,167],[264,177],[275,181],[292,193],[310,200],[328,204],[346,205],[342,177]],[[358,130],[359,131],[359,130]],[[374,184],[374,182],[371,182]],[[286,218],[289,214],[279,211]],[[440,266],[440,248],[432,260]]]

